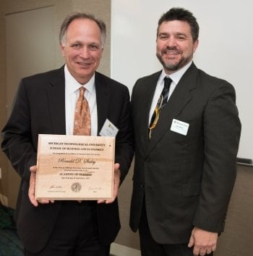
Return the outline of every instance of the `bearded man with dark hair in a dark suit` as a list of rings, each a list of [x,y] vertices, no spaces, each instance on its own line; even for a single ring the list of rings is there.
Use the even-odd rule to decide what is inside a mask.
[[[132,91],[130,226],[139,229],[142,256],[213,255],[223,231],[241,124],[233,86],[192,62],[198,34],[191,12],[173,8],[162,15],[163,70],[137,80]],[[167,95],[165,77],[172,80]]]

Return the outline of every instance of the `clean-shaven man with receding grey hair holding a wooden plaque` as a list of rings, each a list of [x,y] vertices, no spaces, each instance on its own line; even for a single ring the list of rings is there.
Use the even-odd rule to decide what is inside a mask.
[[[66,65],[23,78],[5,125],[2,149],[22,178],[15,218],[27,256],[109,255],[119,232],[116,199],[133,156],[129,91],[97,73],[106,25],[93,15],[73,13],[61,25],[60,44]],[[114,194],[111,200],[35,200],[38,134],[73,134],[80,87],[90,108],[91,135],[108,119],[116,128]]]

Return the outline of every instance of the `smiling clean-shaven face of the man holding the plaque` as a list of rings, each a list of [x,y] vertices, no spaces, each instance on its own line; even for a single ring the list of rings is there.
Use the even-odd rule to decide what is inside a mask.
[[[97,70],[103,53],[98,24],[87,18],[73,20],[61,42],[61,53],[74,79],[81,84],[87,83]]]

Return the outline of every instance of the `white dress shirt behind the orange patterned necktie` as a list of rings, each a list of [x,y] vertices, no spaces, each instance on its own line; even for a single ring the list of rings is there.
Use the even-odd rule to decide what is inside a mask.
[[[66,134],[72,135],[74,128],[74,110],[77,103],[77,99],[80,94],[79,88],[85,87],[85,98],[90,107],[91,117],[91,135],[98,135],[98,112],[97,112],[97,99],[95,94],[95,74],[89,80],[89,82],[82,85],[73,78],[67,69],[67,65],[64,67],[65,74],[65,117],[66,117]]]

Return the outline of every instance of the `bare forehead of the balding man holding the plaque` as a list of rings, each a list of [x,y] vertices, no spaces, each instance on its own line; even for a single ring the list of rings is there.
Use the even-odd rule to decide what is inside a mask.
[[[101,31],[98,24],[87,18],[73,20],[67,28],[66,36],[68,40],[93,39],[100,41]]]

